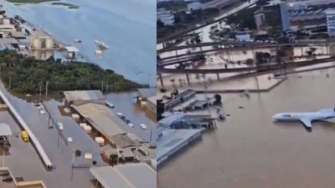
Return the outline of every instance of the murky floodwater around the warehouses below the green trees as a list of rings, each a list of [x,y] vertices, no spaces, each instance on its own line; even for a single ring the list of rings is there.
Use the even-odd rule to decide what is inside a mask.
[[[3,86],[0,87],[3,91],[5,90]],[[9,98],[9,93],[5,92]],[[150,131],[153,128],[155,133],[154,123],[149,120],[144,114],[143,111],[137,109],[133,104],[133,97],[135,93],[111,93],[107,96],[107,101],[114,103],[115,110],[123,113],[127,119],[135,125],[135,132],[139,135],[140,138],[143,138],[146,141],[150,140]],[[44,99],[42,97],[42,99]],[[51,112],[56,122],[61,122],[64,125],[64,130],[62,134],[65,139],[68,137],[73,138],[73,143],[66,146],[62,137],[58,136],[58,132],[55,128],[48,128],[48,118],[47,115],[41,115],[38,109],[34,106],[33,103],[27,103],[26,101],[16,98],[14,96],[10,97],[12,105],[16,108],[18,113],[25,120],[27,125],[31,128],[32,132],[35,134],[37,139],[40,141],[42,147],[44,148],[46,154],[50,158],[55,169],[47,172],[39,158],[37,160],[31,160],[28,158],[22,158],[23,155],[16,154],[15,156],[8,156],[6,160],[12,161],[8,163],[9,167],[15,170],[15,174],[18,174],[22,177],[26,177],[27,180],[43,180],[48,187],[58,188],[58,187],[83,187],[91,188],[93,187],[90,179],[92,178],[88,168],[75,169],[73,173],[73,179],[71,179],[72,172],[72,154],[75,150],[81,150],[82,153],[92,153],[93,160],[97,161],[97,165],[106,165],[101,159],[101,147],[95,143],[95,141],[83,130],[71,117],[61,116],[57,106],[61,103],[51,100],[46,102],[48,110]],[[0,121],[4,122],[0,117]],[[7,120],[9,121],[9,120]],[[5,121],[5,122],[7,122]],[[148,126],[147,130],[140,129],[140,123],[144,123]],[[15,125],[13,121],[8,122],[10,125]],[[17,133],[18,128],[16,127],[13,132]],[[153,134],[152,140],[156,140]],[[13,138],[14,140],[20,140],[20,138]],[[19,142],[19,141],[16,141]],[[19,145],[20,148],[23,148],[22,144]],[[31,146],[26,146],[31,148]],[[18,147],[13,147],[15,148]],[[25,148],[27,150],[28,148]],[[29,153],[25,153],[24,156],[34,155],[31,150],[27,150]],[[36,155],[36,153],[35,153]],[[0,157],[1,158],[1,157]],[[20,160],[25,165],[18,166],[15,160]],[[32,161],[34,163],[32,163]],[[36,162],[37,161],[37,162]],[[38,163],[39,162],[39,163]],[[30,164],[36,164],[36,168]],[[90,161],[87,161],[82,157],[75,158],[75,165],[86,165],[89,167]],[[24,169],[20,170],[21,167]],[[26,169],[27,168],[27,169]],[[29,169],[30,172],[27,173]],[[13,172],[14,173],[14,172]]]

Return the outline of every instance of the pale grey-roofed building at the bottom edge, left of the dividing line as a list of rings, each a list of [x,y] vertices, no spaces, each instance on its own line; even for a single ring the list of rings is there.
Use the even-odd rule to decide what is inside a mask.
[[[91,167],[97,187],[156,188],[157,173],[146,163]]]

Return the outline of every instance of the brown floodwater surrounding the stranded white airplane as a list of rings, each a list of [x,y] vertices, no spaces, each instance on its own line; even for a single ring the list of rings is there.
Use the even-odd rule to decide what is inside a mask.
[[[334,187],[335,124],[314,122],[309,133],[299,122],[271,118],[333,108],[334,83],[335,69],[318,70],[292,74],[249,100],[236,95],[224,103],[231,116],[217,130],[158,171],[158,187]]]

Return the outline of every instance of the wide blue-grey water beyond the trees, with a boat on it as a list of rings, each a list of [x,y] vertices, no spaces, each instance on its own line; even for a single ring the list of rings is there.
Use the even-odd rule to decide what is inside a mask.
[[[15,6],[2,1],[9,16],[20,15],[56,39],[77,45],[81,54],[103,68],[113,69],[131,80],[155,84],[154,0],[70,0],[66,3],[80,8],[70,10],[50,3]],[[75,44],[75,39],[83,42]],[[94,40],[109,46],[101,59],[95,55]]]

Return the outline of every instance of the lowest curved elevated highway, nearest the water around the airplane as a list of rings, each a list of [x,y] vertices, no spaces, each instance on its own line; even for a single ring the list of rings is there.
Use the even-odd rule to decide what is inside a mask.
[[[302,67],[308,65],[315,65],[335,60],[334,57],[316,59],[312,61],[302,62],[290,62],[285,64],[271,64],[261,66],[251,66],[242,68],[220,68],[220,69],[172,69],[157,67],[157,73],[179,73],[179,74],[217,74],[217,73],[231,73],[231,72],[247,72],[247,71],[266,71],[266,70],[278,70],[284,68]]]

